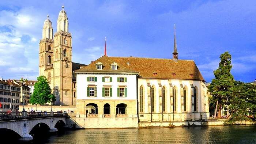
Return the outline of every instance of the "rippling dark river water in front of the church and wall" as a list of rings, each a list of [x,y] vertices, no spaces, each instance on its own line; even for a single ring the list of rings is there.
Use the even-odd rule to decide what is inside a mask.
[[[152,144],[152,143],[256,143],[256,125],[79,129],[36,138],[33,143],[49,144]]]

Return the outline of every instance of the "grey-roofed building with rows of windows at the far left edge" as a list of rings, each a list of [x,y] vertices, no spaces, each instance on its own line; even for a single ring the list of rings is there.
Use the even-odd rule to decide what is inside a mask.
[[[10,111],[10,105],[12,110],[19,109],[20,86],[11,80],[0,79],[0,103],[0,111]]]

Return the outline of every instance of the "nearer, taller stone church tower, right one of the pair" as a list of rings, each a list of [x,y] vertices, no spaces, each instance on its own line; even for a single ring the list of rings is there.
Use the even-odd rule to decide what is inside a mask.
[[[64,5],[57,20],[57,32],[54,34],[53,91],[55,104],[73,105],[72,89],[72,36],[68,32],[68,16]]]

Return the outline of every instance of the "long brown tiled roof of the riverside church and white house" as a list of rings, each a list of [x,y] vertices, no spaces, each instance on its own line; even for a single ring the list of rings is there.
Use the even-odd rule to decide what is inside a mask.
[[[97,70],[96,63],[101,62],[102,70]],[[111,64],[116,62],[116,71]],[[75,72],[139,72],[141,78],[204,80],[193,60],[155,59],[141,57],[102,56],[87,67]]]

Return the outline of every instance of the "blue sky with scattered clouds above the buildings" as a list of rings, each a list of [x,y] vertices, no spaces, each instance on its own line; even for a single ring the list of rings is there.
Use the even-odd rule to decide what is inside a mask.
[[[0,77],[36,80],[39,40],[47,15],[57,29],[61,7],[72,33],[72,61],[89,64],[104,54],[194,60],[206,81],[228,51],[237,81],[256,79],[255,0],[2,0]]]

